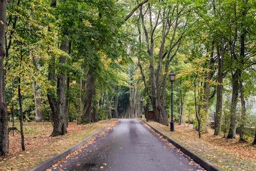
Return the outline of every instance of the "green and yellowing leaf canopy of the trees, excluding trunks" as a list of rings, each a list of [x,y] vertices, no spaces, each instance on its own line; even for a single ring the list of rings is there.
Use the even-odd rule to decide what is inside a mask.
[[[56,75],[63,70],[70,75],[70,112],[71,118],[81,114],[84,80],[87,69],[95,77],[95,96],[97,102],[103,98],[106,89],[109,95],[119,97],[119,105],[125,111],[129,106],[129,84],[139,87],[142,96],[147,96],[140,71],[137,67],[138,59],[141,60],[142,69],[146,76],[145,80],[151,87],[149,61],[154,58],[157,67],[158,55],[161,46],[161,24],[156,27],[153,35],[154,56],[148,55],[145,41],[139,44],[137,19],[139,9],[124,23],[123,18],[137,5],[137,1],[57,1],[56,8],[50,8],[51,1],[13,1],[8,3],[7,17],[7,55],[5,60],[6,71],[6,104],[8,114],[13,112],[19,115],[17,97],[17,78],[20,77],[24,112],[34,117],[35,104],[34,93],[40,90],[42,105],[40,109],[44,113],[45,120],[52,119],[52,112],[47,99],[48,93],[56,97],[56,80],[48,81],[48,66],[51,57],[55,57],[54,68]],[[173,49],[170,54],[174,58],[170,61],[168,72],[173,70],[177,76],[174,82],[174,118],[178,119],[178,100],[180,91],[184,98],[183,114],[197,127],[195,122],[196,110],[202,125],[207,125],[208,114],[202,110],[204,105],[204,86],[210,83],[210,94],[214,92],[217,77],[217,63],[214,64],[212,80],[205,80],[208,69],[208,60],[211,53],[213,40],[219,45],[224,45],[224,92],[229,99],[231,94],[231,73],[236,69],[241,70],[240,80],[243,81],[244,95],[246,101],[255,96],[255,2],[253,1],[150,1],[154,15],[158,11],[168,9],[183,9],[180,15],[178,29],[173,41],[176,42],[182,36],[180,47],[177,52]],[[145,12],[148,4],[143,5]],[[237,25],[234,22],[234,5],[237,10]],[[181,8],[182,7],[182,8]],[[184,8],[183,8],[184,7]],[[175,11],[175,10],[174,10]],[[246,16],[243,16],[246,11]],[[172,12],[172,11],[170,11]],[[184,12],[184,13],[183,13]],[[163,13],[161,13],[163,15]],[[189,15],[188,15],[189,14]],[[162,16],[161,16],[162,17]],[[141,18],[140,18],[141,19]],[[145,15],[146,29],[150,23]],[[163,19],[163,18],[161,18]],[[168,17],[173,22],[175,14]],[[156,18],[153,19],[153,25]],[[183,27],[186,23],[187,27]],[[244,25],[242,25],[244,24]],[[235,39],[235,31],[237,40]],[[141,29],[141,25],[140,25]],[[141,29],[142,31],[142,29]],[[240,56],[240,36],[245,33],[246,57]],[[144,33],[142,32],[142,35]],[[174,30],[170,29],[166,37],[164,53],[172,41]],[[67,54],[59,50],[59,42],[67,38],[71,42],[71,53]],[[144,40],[145,37],[143,37]],[[234,43],[234,48],[232,44]],[[216,46],[216,45],[215,45]],[[232,49],[233,48],[233,49]],[[234,57],[231,51],[234,51]],[[58,58],[65,55],[68,62],[60,68]],[[214,58],[216,58],[216,47]],[[242,62],[242,60],[244,60]],[[163,66],[166,65],[166,57],[163,58]],[[132,71],[132,76],[129,75]],[[164,75],[162,69],[161,73]],[[35,86],[35,84],[38,85]],[[118,88],[118,91],[113,91]],[[194,89],[196,94],[194,94]],[[165,91],[165,103],[168,115],[170,115],[170,82],[167,81]],[[149,91],[151,93],[151,90]],[[196,101],[195,101],[196,98]],[[145,99],[143,99],[145,104]],[[196,103],[195,103],[196,102]],[[210,100],[210,105],[215,105],[216,97]],[[195,104],[197,109],[195,109]],[[12,108],[13,105],[13,108]],[[222,131],[226,132],[229,125],[229,106],[223,108]],[[250,106],[249,106],[250,107]],[[152,108],[152,106],[150,107]],[[106,119],[107,109],[103,104],[97,104],[98,117]],[[199,110],[200,109],[200,110]],[[214,109],[212,109],[214,110]],[[249,115],[246,124],[252,123],[254,115]],[[204,127],[204,126],[203,126]]]

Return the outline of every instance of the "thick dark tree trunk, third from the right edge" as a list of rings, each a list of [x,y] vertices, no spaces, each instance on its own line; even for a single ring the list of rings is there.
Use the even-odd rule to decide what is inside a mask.
[[[239,70],[232,74],[232,99],[231,99],[231,118],[230,126],[227,138],[236,138],[236,129],[237,129],[237,103],[238,103],[238,91],[239,91]]]

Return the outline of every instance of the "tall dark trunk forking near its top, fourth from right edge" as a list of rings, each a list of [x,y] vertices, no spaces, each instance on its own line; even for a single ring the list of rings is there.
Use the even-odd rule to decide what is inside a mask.
[[[222,116],[222,91],[223,91],[223,61],[224,61],[224,42],[221,42],[221,54],[218,42],[216,42],[217,58],[218,58],[218,76],[217,76],[217,101],[216,113],[214,120],[214,135],[219,135],[221,130],[221,116]]]

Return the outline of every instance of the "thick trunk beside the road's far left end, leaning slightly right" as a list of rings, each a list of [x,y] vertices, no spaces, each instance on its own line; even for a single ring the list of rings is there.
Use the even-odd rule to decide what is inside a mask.
[[[90,71],[86,77],[86,88],[84,89],[84,102],[83,102],[83,113],[81,122],[90,123],[92,120],[92,100],[94,92],[94,76],[90,74]]]

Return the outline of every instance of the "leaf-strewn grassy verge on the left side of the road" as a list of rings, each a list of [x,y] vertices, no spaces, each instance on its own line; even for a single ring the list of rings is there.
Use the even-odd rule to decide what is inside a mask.
[[[10,154],[5,158],[0,158],[0,170],[29,170],[70,146],[81,142],[102,127],[115,125],[117,122],[97,122],[86,125],[77,125],[76,122],[69,122],[68,133],[57,137],[50,137],[52,133],[51,122],[25,123],[26,151],[23,152],[21,149],[19,132],[14,132],[14,136],[10,132]],[[16,124],[18,125],[18,123]],[[17,129],[19,130],[18,126]]]

